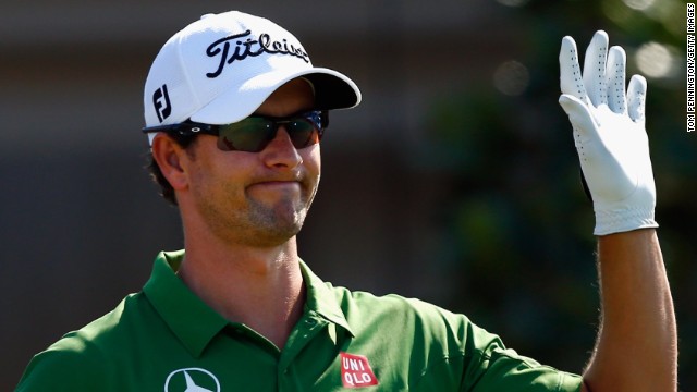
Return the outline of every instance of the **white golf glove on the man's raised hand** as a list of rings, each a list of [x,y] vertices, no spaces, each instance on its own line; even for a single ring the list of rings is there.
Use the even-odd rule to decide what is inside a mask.
[[[596,212],[594,234],[656,228],[656,185],[645,130],[646,79],[634,75],[625,95],[626,54],[608,51],[608,35],[597,32],[584,61],[572,37],[559,53],[562,106],[574,128],[580,168]]]

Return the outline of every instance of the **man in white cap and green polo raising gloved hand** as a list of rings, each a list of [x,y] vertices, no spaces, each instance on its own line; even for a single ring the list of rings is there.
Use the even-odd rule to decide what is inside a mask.
[[[185,252],[160,254],[140,293],[38,354],[17,390],[675,390],[646,82],[634,77],[625,97],[624,51],[607,44],[596,34],[583,76],[571,38],[560,54],[599,243],[602,326],[583,377],[519,356],[463,315],[313,274],[295,236],[327,111],[360,93],[314,68],[289,32],[228,12],[168,40],[145,86],[152,170],[179,206]]]

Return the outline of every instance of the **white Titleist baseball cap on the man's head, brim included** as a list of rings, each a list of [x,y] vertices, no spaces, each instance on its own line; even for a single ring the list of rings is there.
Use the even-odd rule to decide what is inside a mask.
[[[204,15],[172,36],[152,62],[145,82],[145,124],[237,122],[301,76],[315,89],[317,110],[360,102],[353,81],[314,68],[297,38],[276,23],[237,11]]]

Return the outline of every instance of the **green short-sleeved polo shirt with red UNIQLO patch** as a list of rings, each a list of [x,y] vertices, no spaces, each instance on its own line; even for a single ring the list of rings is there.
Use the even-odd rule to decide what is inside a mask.
[[[161,253],[143,291],[37,354],[17,391],[578,391],[455,315],[322,282],[283,350],[204,304]]]

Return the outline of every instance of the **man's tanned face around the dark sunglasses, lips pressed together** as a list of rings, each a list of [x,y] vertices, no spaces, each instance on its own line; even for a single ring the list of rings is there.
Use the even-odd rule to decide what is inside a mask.
[[[256,114],[285,117],[313,108],[311,87],[294,79],[277,89]],[[317,192],[319,144],[296,149],[284,126],[259,152],[221,151],[217,137],[189,147],[191,205],[196,219],[230,244],[276,246],[301,230]]]

